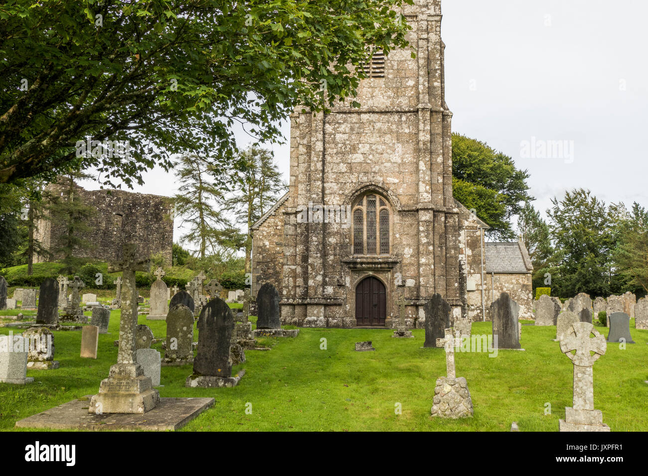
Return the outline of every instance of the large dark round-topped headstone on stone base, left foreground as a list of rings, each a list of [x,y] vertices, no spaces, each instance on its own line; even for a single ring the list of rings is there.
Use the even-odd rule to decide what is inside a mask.
[[[234,316],[219,297],[210,300],[198,317],[198,354],[194,359],[194,375],[231,377],[229,358]]]

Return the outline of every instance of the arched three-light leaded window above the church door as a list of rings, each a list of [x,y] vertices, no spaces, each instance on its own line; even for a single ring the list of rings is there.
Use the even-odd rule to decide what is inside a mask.
[[[389,255],[391,210],[385,199],[367,194],[353,207],[353,254]]]

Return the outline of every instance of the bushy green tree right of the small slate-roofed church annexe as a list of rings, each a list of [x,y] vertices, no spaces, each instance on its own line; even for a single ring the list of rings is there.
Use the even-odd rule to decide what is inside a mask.
[[[578,293],[607,296],[612,290],[611,253],[616,245],[614,220],[605,202],[590,190],[568,191],[551,199],[547,210],[553,245],[557,250],[551,288],[560,297]],[[552,292],[553,294],[553,292]]]

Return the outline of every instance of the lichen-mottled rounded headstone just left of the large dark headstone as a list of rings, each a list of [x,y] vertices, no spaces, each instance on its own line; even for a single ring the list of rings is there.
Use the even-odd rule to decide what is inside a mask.
[[[194,361],[194,313],[177,304],[167,314],[167,348],[162,365],[187,365]]]

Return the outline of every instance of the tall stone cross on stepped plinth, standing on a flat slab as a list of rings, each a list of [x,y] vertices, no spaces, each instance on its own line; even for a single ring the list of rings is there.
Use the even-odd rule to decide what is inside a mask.
[[[117,363],[110,368],[108,378],[101,382],[98,394],[90,400],[89,413],[146,413],[159,403],[159,392],[135,358],[135,271],[150,269],[148,259],[138,260],[136,254],[137,246],[126,244],[121,262],[108,267],[109,273],[123,272],[119,350]]]

